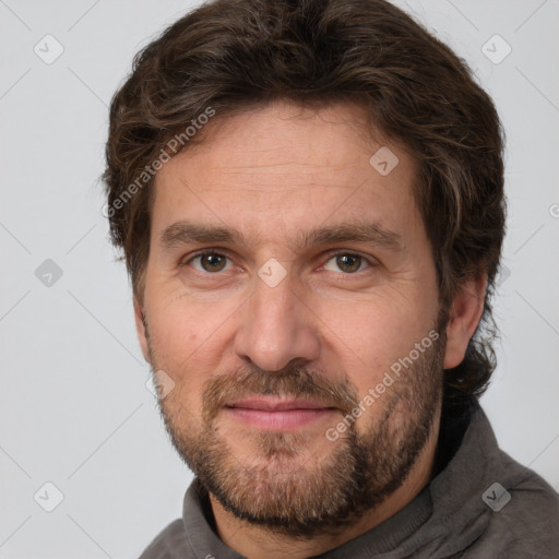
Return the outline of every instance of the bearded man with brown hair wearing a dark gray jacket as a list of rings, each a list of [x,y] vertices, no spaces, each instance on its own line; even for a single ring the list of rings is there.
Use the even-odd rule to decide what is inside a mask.
[[[500,123],[382,0],[217,0],[116,94],[105,180],[145,359],[195,479],[151,558],[559,557],[501,452]]]

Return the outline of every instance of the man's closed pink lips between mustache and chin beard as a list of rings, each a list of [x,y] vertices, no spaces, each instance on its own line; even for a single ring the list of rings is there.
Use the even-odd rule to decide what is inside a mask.
[[[235,420],[261,430],[292,431],[330,417],[337,408],[312,400],[258,396],[231,402],[224,411]]]

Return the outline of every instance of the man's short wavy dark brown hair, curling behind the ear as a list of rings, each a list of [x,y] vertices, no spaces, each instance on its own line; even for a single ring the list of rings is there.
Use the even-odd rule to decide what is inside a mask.
[[[361,104],[415,157],[441,308],[466,280],[488,276],[481,323],[445,374],[447,399],[483,393],[496,366],[489,300],[504,235],[503,132],[466,63],[384,0],[213,0],[136,55],[112,98],[104,174],[134,296],[142,300],[153,193],[153,179],[138,177],[209,107],[219,118],[276,99]]]

